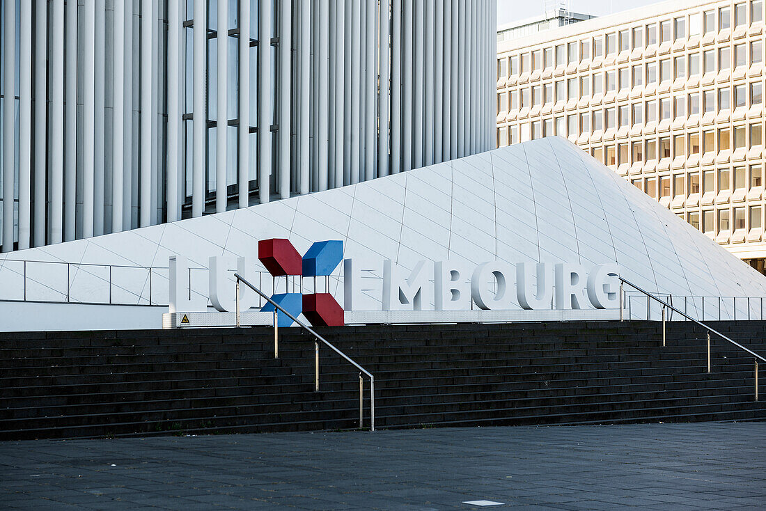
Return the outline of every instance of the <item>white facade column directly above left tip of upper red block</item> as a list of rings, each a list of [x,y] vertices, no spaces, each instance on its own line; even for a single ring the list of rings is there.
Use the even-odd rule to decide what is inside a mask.
[[[258,2],[258,198],[270,199],[271,175],[271,2]]]

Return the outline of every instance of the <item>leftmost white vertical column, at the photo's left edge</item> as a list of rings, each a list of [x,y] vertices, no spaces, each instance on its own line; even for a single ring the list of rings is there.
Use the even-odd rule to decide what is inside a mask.
[[[13,251],[14,114],[16,84],[16,2],[3,2],[3,165],[2,251]]]

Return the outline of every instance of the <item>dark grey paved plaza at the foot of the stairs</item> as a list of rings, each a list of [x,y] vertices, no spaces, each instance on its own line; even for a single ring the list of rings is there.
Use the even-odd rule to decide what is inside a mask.
[[[0,508],[763,509],[764,443],[763,422],[6,441]]]

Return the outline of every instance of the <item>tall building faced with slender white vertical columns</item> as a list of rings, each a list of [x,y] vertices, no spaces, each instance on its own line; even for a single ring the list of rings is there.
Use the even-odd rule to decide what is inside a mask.
[[[2,2],[2,251],[491,149],[495,19],[483,0]]]

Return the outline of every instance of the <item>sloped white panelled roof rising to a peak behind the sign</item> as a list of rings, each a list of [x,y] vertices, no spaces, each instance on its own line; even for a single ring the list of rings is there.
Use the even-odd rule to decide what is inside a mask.
[[[213,255],[257,257],[257,242],[270,237],[290,238],[302,253],[314,241],[339,239],[345,257],[391,258],[405,267],[421,259],[617,262],[625,278],[653,292],[766,296],[761,274],[558,137],[217,215],[3,254],[0,282],[18,274],[6,257],[167,267],[169,256],[182,254],[207,267]],[[76,287],[77,275],[71,278]],[[138,279],[130,286],[139,296],[146,294],[146,279],[131,278]]]

